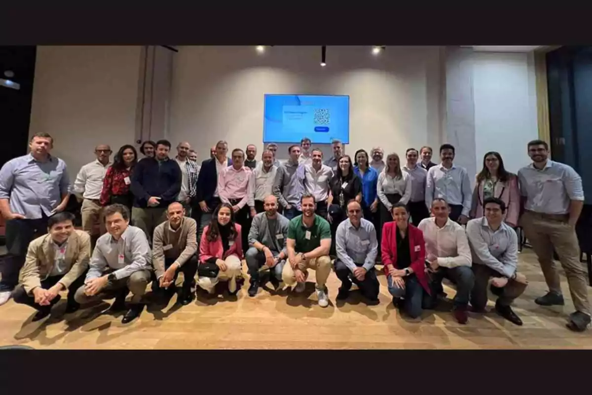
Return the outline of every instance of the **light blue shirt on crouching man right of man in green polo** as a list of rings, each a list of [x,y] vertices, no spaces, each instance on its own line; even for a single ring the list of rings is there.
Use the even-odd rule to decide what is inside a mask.
[[[335,233],[337,259],[342,261],[350,271],[358,265],[366,270],[374,267],[378,253],[376,229],[371,221],[361,219],[360,227],[356,229],[352,221],[346,219],[337,226]]]

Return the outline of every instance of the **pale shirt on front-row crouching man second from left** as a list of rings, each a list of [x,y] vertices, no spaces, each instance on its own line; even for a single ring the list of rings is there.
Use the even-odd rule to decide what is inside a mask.
[[[123,262],[119,259],[120,255],[123,255]],[[152,251],[143,230],[128,226],[119,240],[109,233],[96,240],[86,280],[101,277],[107,268],[114,270],[117,280],[140,270],[152,269]]]

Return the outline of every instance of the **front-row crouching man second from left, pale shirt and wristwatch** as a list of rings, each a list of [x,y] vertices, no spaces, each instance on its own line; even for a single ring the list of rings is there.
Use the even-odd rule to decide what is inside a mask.
[[[104,208],[107,232],[96,240],[85,285],[78,288],[75,299],[80,304],[91,304],[115,297],[110,311],[126,309],[126,297],[133,294],[131,306],[121,323],[140,316],[146,285],[150,281],[152,252],[146,233],[130,226],[130,211],[123,204]]]

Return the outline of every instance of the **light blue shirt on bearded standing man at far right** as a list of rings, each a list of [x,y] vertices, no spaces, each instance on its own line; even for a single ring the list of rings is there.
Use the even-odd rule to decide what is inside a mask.
[[[533,163],[518,171],[526,210],[544,214],[568,214],[570,200],[584,200],[582,178],[565,163],[547,160],[542,170]]]

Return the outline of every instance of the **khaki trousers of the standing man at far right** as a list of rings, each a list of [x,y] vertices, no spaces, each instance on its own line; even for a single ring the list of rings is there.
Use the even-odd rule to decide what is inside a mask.
[[[588,301],[587,269],[580,262],[580,245],[574,227],[567,223],[567,216],[539,214],[526,211],[520,219],[526,238],[539,258],[549,291],[561,294],[559,273],[553,261],[553,250],[565,271],[575,309],[590,314]]]

